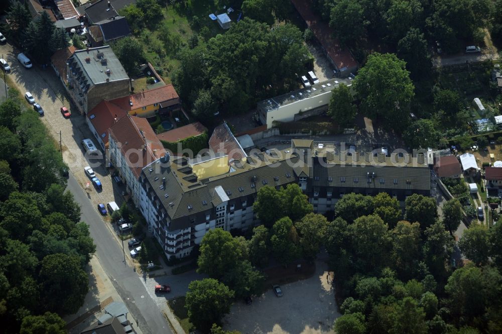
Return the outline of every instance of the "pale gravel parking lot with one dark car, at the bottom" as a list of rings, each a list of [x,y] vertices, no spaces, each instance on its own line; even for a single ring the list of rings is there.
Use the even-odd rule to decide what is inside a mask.
[[[324,262],[317,261],[312,277],[281,286],[282,297],[276,297],[270,289],[255,297],[251,305],[237,301],[224,318],[224,329],[256,334],[334,333],[333,321],[340,313],[326,278],[327,269]]]

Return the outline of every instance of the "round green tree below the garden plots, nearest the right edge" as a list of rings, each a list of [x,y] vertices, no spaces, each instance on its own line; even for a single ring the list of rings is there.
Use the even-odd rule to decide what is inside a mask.
[[[476,265],[486,264],[489,256],[488,230],[483,225],[473,224],[464,231],[458,247]]]

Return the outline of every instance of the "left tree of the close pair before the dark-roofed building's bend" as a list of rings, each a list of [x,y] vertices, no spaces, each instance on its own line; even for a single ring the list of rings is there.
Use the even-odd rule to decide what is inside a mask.
[[[276,221],[284,217],[285,214],[277,208],[282,208],[283,193],[278,192],[271,186],[264,186],[258,191],[258,196],[253,203],[253,211],[258,219],[267,227],[271,227]]]

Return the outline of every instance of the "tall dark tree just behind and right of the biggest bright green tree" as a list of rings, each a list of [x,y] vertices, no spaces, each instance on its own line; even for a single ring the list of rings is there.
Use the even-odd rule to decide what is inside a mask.
[[[431,55],[424,34],[411,28],[398,42],[398,57],[406,62],[413,78],[422,78],[431,73]]]

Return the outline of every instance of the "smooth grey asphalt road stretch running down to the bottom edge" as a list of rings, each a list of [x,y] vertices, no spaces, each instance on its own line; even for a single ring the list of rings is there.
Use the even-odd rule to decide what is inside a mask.
[[[138,326],[145,334],[173,333],[157,304],[147,292],[142,278],[128,264],[124,265],[122,247],[99,216],[96,208],[87,198],[77,180],[70,174],[67,190],[75,197],[82,210],[82,221],[90,228],[90,235],[96,244],[96,256],[118,294],[133,314]],[[126,251],[129,251],[127,249]],[[130,319],[131,320],[131,319]],[[131,320],[132,321],[132,320]]]

